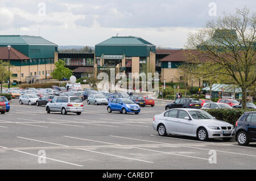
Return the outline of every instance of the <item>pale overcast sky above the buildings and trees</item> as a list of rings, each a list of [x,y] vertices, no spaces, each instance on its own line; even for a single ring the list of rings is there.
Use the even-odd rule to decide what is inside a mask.
[[[244,6],[255,11],[255,5],[255,0],[1,0],[0,35],[38,36],[40,29],[40,36],[58,45],[94,46],[118,33],[182,48],[187,33],[207,20]]]

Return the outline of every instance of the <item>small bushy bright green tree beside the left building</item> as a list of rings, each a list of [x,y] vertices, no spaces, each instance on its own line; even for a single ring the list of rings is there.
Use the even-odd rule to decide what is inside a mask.
[[[65,62],[62,60],[59,60],[55,62],[56,68],[54,71],[51,73],[52,78],[61,80],[63,77],[65,78],[70,78],[72,76],[73,71],[65,68]]]

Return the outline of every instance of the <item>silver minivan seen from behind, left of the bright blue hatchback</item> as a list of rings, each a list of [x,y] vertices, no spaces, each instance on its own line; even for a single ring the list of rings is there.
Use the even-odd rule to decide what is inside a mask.
[[[46,104],[47,113],[61,112],[66,115],[68,112],[75,112],[81,115],[84,110],[82,100],[76,96],[55,96]]]

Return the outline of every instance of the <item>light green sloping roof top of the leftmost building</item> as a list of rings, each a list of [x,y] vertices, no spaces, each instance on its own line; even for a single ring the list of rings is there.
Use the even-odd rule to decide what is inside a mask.
[[[28,35],[0,35],[0,45],[1,44],[56,45],[41,36]]]

